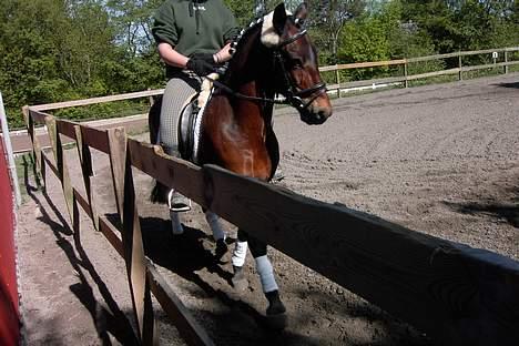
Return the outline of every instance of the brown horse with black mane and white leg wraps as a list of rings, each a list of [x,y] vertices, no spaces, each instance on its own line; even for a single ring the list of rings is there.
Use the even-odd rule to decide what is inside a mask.
[[[269,181],[279,161],[279,149],[273,130],[272,114],[276,94],[299,112],[307,124],[322,124],[332,115],[332,106],[322,82],[316,51],[304,22],[306,4],[294,14],[285,7],[276,9],[242,31],[226,72],[214,82],[213,95],[205,106],[201,125],[199,164],[217,164],[230,171],[261,181]],[[156,139],[159,119],[150,114],[152,141]],[[218,227],[215,215],[207,213],[211,226]],[[180,225],[180,222],[177,223]],[[247,246],[268,299],[267,317],[283,316],[266,244],[238,230],[232,256],[233,284],[243,288],[242,271]],[[272,319],[272,318],[271,318]]]

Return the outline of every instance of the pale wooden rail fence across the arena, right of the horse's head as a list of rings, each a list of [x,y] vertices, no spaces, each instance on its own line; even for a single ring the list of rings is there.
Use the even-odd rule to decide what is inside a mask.
[[[358,63],[346,63],[346,64],[336,64],[329,67],[319,68],[322,72],[335,72],[335,84],[328,85],[329,91],[336,91],[337,95],[340,96],[342,89],[349,89],[349,88],[358,88],[358,86],[368,86],[375,84],[391,84],[391,83],[404,83],[405,88],[408,88],[410,81],[416,81],[426,78],[432,77],[440,77],[440,75],[449,75],[449,74],[457,74],[458,80],[464,79],[464,72],[469,71],[477,71],[477,70],[486,70],[486,69],[502,69],[503,73],[508,73],[509,67],[518,65],[519,61],[510,60],[510,55],[513,52],[519,52],[519,47],[511,47],[511,48],[499,48],[499,49],[487,49],[487,50],[478,50],[478,51],[465,51],[465,52],[455,52],[455,53],[447,53],[447,54],[437,54],[437,55],[429,55],[429,57],[419,57],[419,58],[409,58],[409,59],[399,59],[399,60],[388,60],[388,61],[377,61],[377,62],[358,62]],[[502,57],[502,62],[497,62],[499,58],[493,58],[493,54]],[[490,55],[490,59],[493,60],[492,63],[482,64],[482,65],[464,65],[462,59],[464,57],[471,57],[471,55]],[[442,60],[442,59],[458,59],[458,67],[448,70],[441,71],[432,71],[419,74],[409,74],[409,64],[410,63],[419,63],[426,61],[435,61],[435,60]],[[353,82],[342,82],[340,81],[340,73],[342,70],[353,70],[353,69],[366,69],[366,68],[383,68],[383,67],[390,67],[390,65],[399,65],[404,67],[404,74],[398,77],[389,77],[389,78],[380,78],[380,79],[372,79],[372,80],[363,80],[363,81],[353,81]]]

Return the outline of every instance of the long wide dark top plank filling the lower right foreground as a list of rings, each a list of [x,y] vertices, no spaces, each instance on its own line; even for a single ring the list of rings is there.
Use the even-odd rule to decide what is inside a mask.
[[[519,263],[204,166],[212,211],[448,345],[519,339]]]

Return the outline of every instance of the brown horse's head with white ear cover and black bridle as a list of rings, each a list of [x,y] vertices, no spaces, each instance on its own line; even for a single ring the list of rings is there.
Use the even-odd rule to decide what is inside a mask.
[[[283,3],[265,17],[262,43],[273,50],[278,92],[298,110],[307,124],[322,124],[332,115],[318,65],[317,53],[306,34],[306,3],[288,14]]]

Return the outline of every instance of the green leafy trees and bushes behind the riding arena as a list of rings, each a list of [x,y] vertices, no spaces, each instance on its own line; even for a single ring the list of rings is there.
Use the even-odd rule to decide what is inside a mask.
[[[151,35],[164,0],[2,0],[0,91],[13,128],[24,104],[60,102],[162,88],[164,67]],[[241,26],[256,0],[224,0]],[[279,0],[265,0],[268,10]],[[294,10],[299,0],[285,1]],[[319,63],[390,60],[519,44],[519,0],[307,0]],[[490,62],[487,55],[464,64]],[[510,60],[519,59],[510,54]],[[409,73],[457,65],[457,60],[409,64]],[[510,71],[517,70],[511,67]],[[401,74],[391,68],[342,72],[342,80]],[[335,73],[325,73],[329,82]],[[64,110],[96,119],[139,111],[145,103]]]

